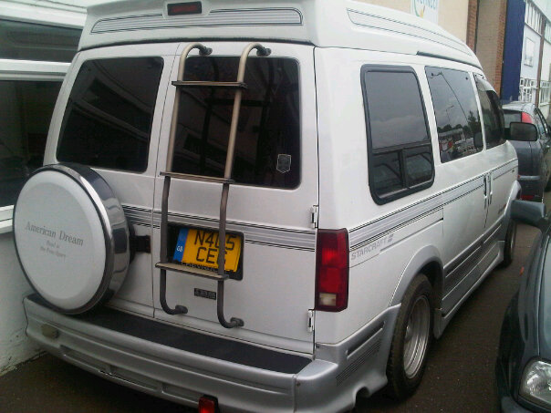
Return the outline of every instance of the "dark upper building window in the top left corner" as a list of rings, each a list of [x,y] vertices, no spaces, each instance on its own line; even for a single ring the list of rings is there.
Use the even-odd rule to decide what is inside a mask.
[[[0,58],[70,62],[80,30],[0,19]]]

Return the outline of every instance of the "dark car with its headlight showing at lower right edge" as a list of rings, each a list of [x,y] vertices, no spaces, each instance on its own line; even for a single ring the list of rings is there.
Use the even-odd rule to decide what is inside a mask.
[[[507,307],[495,373],[504,412],[551,412],[551,222],[540,203],[514,201],[511,216],[541,230]]]

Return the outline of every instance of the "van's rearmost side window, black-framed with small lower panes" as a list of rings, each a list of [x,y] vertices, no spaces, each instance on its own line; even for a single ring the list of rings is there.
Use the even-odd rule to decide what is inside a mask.
[[[411,67],[361,71],[369,150],[369,188],[379,203],[431,186],[432,148],[417,76]]]

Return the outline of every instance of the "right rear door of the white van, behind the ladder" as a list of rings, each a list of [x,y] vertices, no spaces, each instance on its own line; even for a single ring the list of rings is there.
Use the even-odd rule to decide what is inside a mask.
[[[185,80],[235,81],[247,43],[207,42],[210,56],[193,51]],[[187,46],[182,44],[180,52]],[[234,155],[235,183],[230,186],[227,232],[241,251],[225,282],[224,314],[244,327],[226,329],[216,315],[216,282],[167,272],[167,302],[185,305],[186,315],[168,315],[159,300],[160,272],[153,269],[155,317],[179,325],[247,341],[312,352],[308,310],[314,308],[317,205],[317,122],[313,47],[265,44],[269,57],[247,60],[242,108]],[[178,58],[172,68],[177,80]],[[168,138],[176,88],[169,86],[161,129],[155,185],[154,261],[160,256],[161,194],[159,176],[166,168]],[[234,91],[182,88],[172,171],[224,176]],[[172,179],[169,196],[169,257],[174,263],[215,267],[222,185]],[[227,238],[226,238],[227,240]],[[226,243],[228,248],[229,243]],[[239,249],[239,248],[237,248]],[[230,256],[231,255],[231,256]],[[158,260],[157,260],[158,261]]]

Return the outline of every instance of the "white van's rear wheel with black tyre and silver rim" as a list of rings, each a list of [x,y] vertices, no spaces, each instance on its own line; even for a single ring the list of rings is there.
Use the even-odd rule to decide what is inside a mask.
[[[408,398],[421,383],[431,346],[433,308],[431,283],[418,274],[402,299],[390,345],[387,393],[391,398]]]

